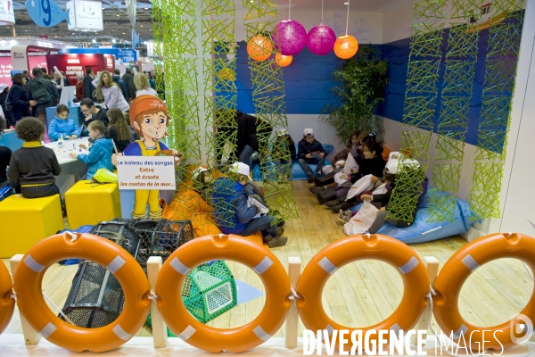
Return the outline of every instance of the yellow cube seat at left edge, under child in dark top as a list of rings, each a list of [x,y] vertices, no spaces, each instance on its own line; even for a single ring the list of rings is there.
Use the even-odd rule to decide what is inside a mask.
[[[0,202],[0,258],[26,253],[39,241],[64,228],[60,195],[24,198],[10,195]]]

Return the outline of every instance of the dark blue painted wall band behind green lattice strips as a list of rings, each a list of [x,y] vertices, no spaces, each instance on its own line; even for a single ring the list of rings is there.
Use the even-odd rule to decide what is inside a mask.
[[[442,59],[440,62],[439,95],[433,118],[434,131],[440,115],[440,92],[444,84],[445,56],[449,29],[444,30]],[[488,52],[489,30],[480,32],[477,62],[473,78],[473,95],[470,104],[466,143],[477,144],[478,125],[481,116],[482,91],[485,77],[485,59]],[[384,102],[377,114],[385,118],[403,121],[403,106],[407,90],[407,66],[409,38],[378,46],[382,58],[389,64],[389,84],[384,92]],[[236,80],[237,108],[243,112],[255,112],[252,103],[251,71],[248,65],[247,44],[242,41],[237,48]],[[512,60],[512,59],[506,59]],[[332,73],[342,64],[334,53],[325,56],[311,54],[305,48],[293,57],[292,64],[283,69],[287,114],[321,114],[326,105],[337,105],[332,88],[336,86]]]

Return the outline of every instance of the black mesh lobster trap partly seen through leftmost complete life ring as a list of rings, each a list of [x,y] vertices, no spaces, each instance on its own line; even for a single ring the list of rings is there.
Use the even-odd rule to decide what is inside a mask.
[[[101,222],[91,229],[91,234],[110,239],[137,257],[141,238],[128,227],[128,221]],[[122,288],[113,274],[102,265],[85,261],[72,280],[62,311],[80,328],[102,328],[119,317],[124,302]],[[59,317],[65,320],[61,314]]]

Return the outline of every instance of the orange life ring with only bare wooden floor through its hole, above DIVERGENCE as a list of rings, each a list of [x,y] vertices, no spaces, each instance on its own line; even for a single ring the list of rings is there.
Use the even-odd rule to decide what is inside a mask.
[[[368,328],[349,328],[331,320],[323,308],[322,293],[327,279],[343,265],[364,259],[374,259],[387,262],[401,272],[403,280],[403,297],[398,309],[382,322]],[[361,329],[364,338],[370,329],[390,329],[399,332],[407,331],[416,326],[424,312],[427,301],[425,296],[429,293],[429,276],[423,262],[408,245],[399,240],[383,235],[350,236],[339,239],[319,251],[303,270],[297,285],[297,308],[300,319],[306,328],[312,331],[328,330],[329,335],[333,329],[347,329],[350,334],[353,330]],[[346,336],[348,343],[344,351],[350,351],[352,343],[350,336]],[[384,336],[390,341],[390,336]],[[378,336],[370,336],[377,341]],[[364,342],[362,342],[364,343]],[[336,348],[339,346],[336,336]],[[364,348],[364,346],[363,346]]]

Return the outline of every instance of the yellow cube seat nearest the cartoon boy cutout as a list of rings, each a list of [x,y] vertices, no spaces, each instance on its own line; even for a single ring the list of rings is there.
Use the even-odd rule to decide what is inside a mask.
[[[78,181],[65,193],[65,206],[70,229],[120,217],[119,185]]]

